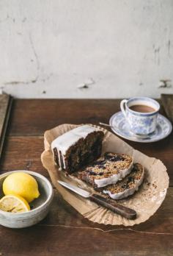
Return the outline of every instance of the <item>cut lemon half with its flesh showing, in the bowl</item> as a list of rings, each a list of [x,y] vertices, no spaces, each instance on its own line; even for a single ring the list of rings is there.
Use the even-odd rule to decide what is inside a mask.
[[[9,213],[23,213],[30,210],[29,203],[21,196],[8,195],[0,200],[0,209]]]

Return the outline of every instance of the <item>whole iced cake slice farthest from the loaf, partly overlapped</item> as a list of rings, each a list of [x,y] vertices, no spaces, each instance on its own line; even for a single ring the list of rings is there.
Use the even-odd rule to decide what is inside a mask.
[[[133,170],[116,184],[102,188],[103,193],[107,193],[112,199],[123,199],[138,191],[144,179],[144,167],[140,163],[135,163]]]

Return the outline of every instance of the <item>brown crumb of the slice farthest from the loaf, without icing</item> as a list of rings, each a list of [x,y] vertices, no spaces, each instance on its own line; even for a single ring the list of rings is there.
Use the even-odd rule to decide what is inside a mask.
[[[97,188],[97,191],[110,191],[112,194],[121,193],[129,188],[135,188],[136,182],[141,179],[144,168],[140,163],[135,163],[133,170],[124,179],[119,180],[116,184],[107,185],[104,188]]]

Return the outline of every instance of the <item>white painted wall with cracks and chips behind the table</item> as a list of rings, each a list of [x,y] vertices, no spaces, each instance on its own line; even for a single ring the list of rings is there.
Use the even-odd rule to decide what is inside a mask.
[[[172,0],[0,0],[0,87],[12,96],[158,97],[173,93],[172,68]]]

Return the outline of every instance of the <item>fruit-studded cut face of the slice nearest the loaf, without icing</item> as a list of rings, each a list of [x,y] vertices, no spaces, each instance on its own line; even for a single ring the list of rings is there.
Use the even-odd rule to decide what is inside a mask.
[[[97,188],[95,179],[103,179],[113,174],[118,174],[125,165],[127,165],[128,168],[132,162],[132,158],[127,154],[106,152],[104,156],[96,160],[95,163],[87,166],[84,171],[80,171],[78,178],[89,183],[93,188]]]

